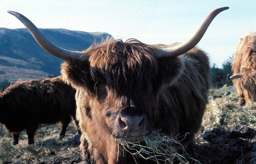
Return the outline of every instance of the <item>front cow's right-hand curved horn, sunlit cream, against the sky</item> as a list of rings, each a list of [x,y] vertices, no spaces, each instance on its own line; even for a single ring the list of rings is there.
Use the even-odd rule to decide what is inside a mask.
[[[194,35],[183,42],[182,44],[178,46],[163,48],[156,52],[158,57],[161,56],[179,56],[183,53],[188,52],[193,47],[196,46],[196,44],[202,39],[204,36],[204,33],[206,32],[208,26],[211,24],[213,18],[216,17],[221,11],[228,10],[229,7],[221,7],[218,9],[213,10],[205,19],[204,21],[198,26],[196,32]]]

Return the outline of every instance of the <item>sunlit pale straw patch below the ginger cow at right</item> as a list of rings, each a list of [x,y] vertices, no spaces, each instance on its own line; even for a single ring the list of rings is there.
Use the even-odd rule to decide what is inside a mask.
[[[222,92],[230,88],[226,87],[222,89]],[[215,92],[220,90],[215,89]],[[215,92],[212,91],[213,94]],[[212,126],[221,126],[229,131],[235,125],[256,127],[256,103],[248,103],[241,107],[238,103],[237,92],[209,102],[204,113],[202,130]]]

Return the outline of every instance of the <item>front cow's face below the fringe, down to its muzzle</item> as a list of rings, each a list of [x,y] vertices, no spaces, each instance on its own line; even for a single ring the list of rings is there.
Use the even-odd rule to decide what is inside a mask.
[[[94,94],[90,98],[92,119],[105,124],[116,138],[138,140],[141,134],[150,132],[156,108],[154,73],[145,74],[144,79],[129,70],[126,78],[123,73],[103,73],[101,69],[95,72]]]

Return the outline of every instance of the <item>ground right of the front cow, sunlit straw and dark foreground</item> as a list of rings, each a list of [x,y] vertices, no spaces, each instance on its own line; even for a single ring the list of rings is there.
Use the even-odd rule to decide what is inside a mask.
[[[228,133],[236,125],[245,125],[255,128],[256,103],[249,103],[241,107],[238,103],[238,94],[234,92],[220,97],[231,87],[211,89],[210,95],[219,97],[210,100],[204,113],[201,129],[195,139],[194,158],[202,163],[256,163],[256,138],[229,138],[217,137],[211,142],[202,138],[203,131],[208,127],[218,126]]]

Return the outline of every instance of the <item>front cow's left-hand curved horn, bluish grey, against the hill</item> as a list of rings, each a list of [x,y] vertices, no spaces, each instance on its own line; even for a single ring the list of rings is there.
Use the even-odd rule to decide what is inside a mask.
[[[53,44],[50,40],[48,40],[42,32],[38,30],[38,28],[30,21],[28,18],[24,17],[18,12],[8,10],[10,14],[18,18],[23,25],[26,26],[28,31],[32,34],[32,36],[36,39],[37,43],[44,48],[45,51],[56,56],[57,58],[68,60],[68,58],[76,58],[79,59],[82,52],[79,51],[70,51],[63,48],[60,48]]]

